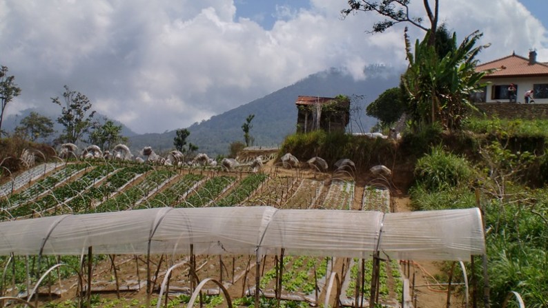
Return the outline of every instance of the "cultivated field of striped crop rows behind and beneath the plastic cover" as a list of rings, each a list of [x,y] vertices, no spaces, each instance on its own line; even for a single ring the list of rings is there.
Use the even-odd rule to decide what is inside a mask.
[[[349,210],[355,198],[363,210],[389,212],[391,196],[382,187],[360,187],[363,195],[355,195],[355,178],[331,178],[312,170],[281,170],[265,167],[252,172],[224,172],[220,169],[178,169],[128,163],[84,162],[66,165],[46,164],[23,172],[0,187],[2,220],[129,211],[152,207],[249,207],[268,205],[278,209],[339,209]],[[78,268],[79,258],[64,263]],[[61,261],[48,256],[41,260],[40,272]],[[96,260],[95,260],[96,259]],[[91,283],[97,295],[95,307],[146,307],[155,304],[157,295],[146,296],[146,260],[144,256],[96,256],[95,276]],[[4,296],[25,294],[37,278],[35,257],[2,258],[3,268],[17,265],[4,273]],[[366,260],[369,264],[371,260]],[[155,256],[153,265],[153,294],[163,290],[160,285],[169,274],[167,302],[179,305],[188,302],[191,291],[204,278],[215,278],[228,289],[233,304],[248,306],[255,294],[255,256],[195,255]],[[264,305],[272,298],[284,299],[285,307],[322,305],[331,274],[337,272],[342,305],[353,306],[356,285],[370,284],[371,272],[363,269],[357,275],[361,260],[311,256],[264,256],[260,268],[261,294]],[[28,266],[28,270],[26,269]],[[369,266],[369,265],[367,265]],[[15,268],[15,267],[14,267]],[[368,267],[369,268],[369,267]],[[380,303],[401,305],[402,280],[398,263],[386,261],[380,280]],[[65,269],[57,279],[41,283],[41,293],[55,294],[59,299],[41,297],[48,307],[75,307],[77,279],[74,271]],[[361,277],[361,278],[360,278]],[[30,281],[31,283],[27,283]],[[363,289],[362,292],[367,292]],[[207,307],[224,307],[219,289],[208,289],[202,301]],[[110,294],[110,295],[109,295]],[[360,293],[361,294],[361,293]],[[151,302],[148,302],[151,300]],[[164,296],[163,300],[166,300]],[[335,294],[331,295],[335,302]],[[364,302],[367,302],[366,300]],[[63,306],[64,305],[64,306]],[[70,306],[72,305],[72,306]]]

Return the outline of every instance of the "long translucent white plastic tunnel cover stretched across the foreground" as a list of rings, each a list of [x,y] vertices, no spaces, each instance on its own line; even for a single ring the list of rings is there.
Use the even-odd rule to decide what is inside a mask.
[[[285,254],[469,260],[485,254],[479,209],[389,213],[205,207],[0,223],[0,255]]]

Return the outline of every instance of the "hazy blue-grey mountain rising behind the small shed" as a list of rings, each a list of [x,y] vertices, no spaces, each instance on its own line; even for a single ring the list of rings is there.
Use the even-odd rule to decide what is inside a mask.
[[[376,119],[365,115],[365,107],[389,88],[400,83],[401,70],[384,65],[369,65],[364,69],[366,78],[355,80],[346,71],[332,68],[324,72],[311,74],[293,85],[268,94],[212,116],[207,121],[195,123],[187,129],[190,136],[187,142],[199,147],[203,152],[215,157],[228,153],[231,143],[244,141],[242,124],[249,114],[255,114],[251,122],[251,136],[255,138],[254,145],[272,147],[282,143],[288,134],[293,134],[297,123],[297,96],[326,96],[335,97],[344,94],[351,97],[351,124],[347,130],[351,132],[369,132],[377,122]],[[363,96],[356,99],[356,96]],[[133,152],[145,146],[153,147],[156,152],[173,149],[175,130],[163,134],[141,134],[130,136],[130,148]]]

